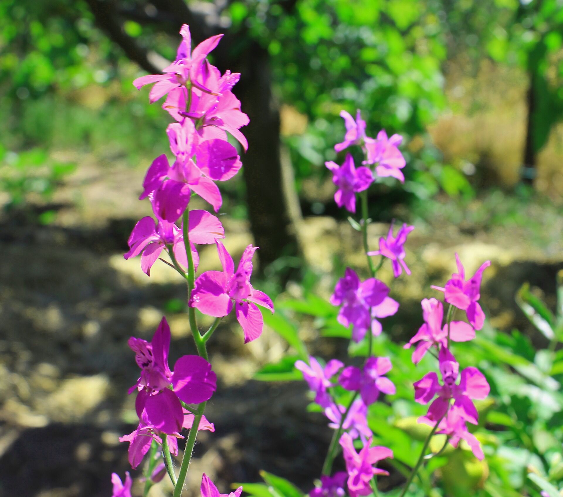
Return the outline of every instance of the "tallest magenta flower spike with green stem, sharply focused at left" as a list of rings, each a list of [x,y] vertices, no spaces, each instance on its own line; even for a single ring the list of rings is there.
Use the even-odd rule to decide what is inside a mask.
[[[148,488],[160,481],[166,472],[174,495],[184,486],[187,464],[199,430],[215,431],[213,423],[203,414],[205,402],[217,389],[217,376],[207,359],[207,343],[222,317],[235,308],[236,319],[242,325],[244,341],[250,342],[262,333],[263,319],[257,305],[274,311],[270,298],[255,290],[251,283],[252,256],[257,247],[249,245],[238,268],[220,239],[225,230],[219,219],[208,211],[189,210],[193,194],[199,195],[217,212],[221,208],[221,192],[216,182],[234,177],[242,167],[235,146],[227,140],[230,133],[244,150],[248,143],[240,128],[248,124],[248,116],[240,110],[240,102],[231,91],[240,74],[225,74],[207,60],[222,35],[211,37],[191,50],[187,25],[180,30],[182,42],[176,59],[163,74],[137,78],[133,84],[141,88],[153,84],[151,103],[166,95],[163,108],[176,122],[166,129],[173,160],[166,154],[154,159],[142,183],[140,200],[148,198],[154,218],[146,216],[137,222],[128,239],[129,250],[124,258],[141,256],[141,269],[150,276],[151,268],[168,254],[170,266],[185,278],[188,286],[190,328],[198,355],[183,355],[171,369],[168,353],[171,332],[162,318],[150,342],[129,338],[141,373],[129,389],[136,392],[135,409],[139,423],[120,441],[129,444],[129,463],[136,469],[149,453],[144,474]],[[199,254],[196,245],[215,244],[222,271],[206,271],[196,277]],[[166,262],[166,261],[164,261]],[[200,333],[195,309],[215,317],[207,333]],[[178,455],[178,439],[189,429],[185,457],[176,477],[172,456]],[[194,432],[194,433],[192,433]],[[163,462],[158,463],[162,451]],[[184,469],[185,468],[185,469]],[[113,497],[131,497],[132,479],[126,473],[123,483],[117,474],[111,477]],[[220,494],[203,474],[202,497],[239,497],[242,487],[230,494]]]

